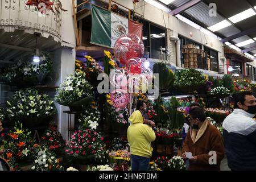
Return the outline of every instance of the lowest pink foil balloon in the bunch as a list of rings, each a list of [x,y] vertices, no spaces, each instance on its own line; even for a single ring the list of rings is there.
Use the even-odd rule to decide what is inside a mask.
[[[110,99],[113,102],[113,106],[115,108],[122,109],[129,104],[129,94],[126,90],[123,89],[115,89],[110,94]]]

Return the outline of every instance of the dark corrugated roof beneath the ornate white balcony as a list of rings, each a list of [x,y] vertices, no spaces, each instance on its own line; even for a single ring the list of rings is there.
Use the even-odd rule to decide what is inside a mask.
[[[40,36],[36,41],[35,34],[28,34],[22,30],[4,32],[0,29],[0,36],[0,43],[10,46],[19,46],[32,49],[39,48],[42,51],[53,51],[53,49],[55,49],[57,46],[60,46],[60,43],[55,42],[50,36],[49,38]],[[29,54],[32,53],[0,46],[0,60],[16,61],[20,59],[20,57],[27,56]]]

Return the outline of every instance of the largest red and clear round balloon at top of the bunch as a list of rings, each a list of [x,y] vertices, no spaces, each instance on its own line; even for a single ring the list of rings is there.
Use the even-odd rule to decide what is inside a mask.
[[[120,36],[114,45],[114,55],[123,65],[135,57],[141,58],[144,54],[144,44],[139,36],[126,34]]]

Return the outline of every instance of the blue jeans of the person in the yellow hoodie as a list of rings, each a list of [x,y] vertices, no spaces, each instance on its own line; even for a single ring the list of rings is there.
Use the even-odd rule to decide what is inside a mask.
[[[150,169],[150,158],[145,158],[138,155],[131,155],[131,170],[132,171],[148,171]]]

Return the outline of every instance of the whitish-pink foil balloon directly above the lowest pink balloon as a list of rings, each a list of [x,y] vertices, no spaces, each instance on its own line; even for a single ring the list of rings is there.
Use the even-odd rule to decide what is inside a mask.
[[[126,71],[123,68],[112,69],[109,75],[109,81],[115,88],[124,88],[127,86]]]

